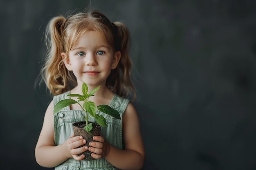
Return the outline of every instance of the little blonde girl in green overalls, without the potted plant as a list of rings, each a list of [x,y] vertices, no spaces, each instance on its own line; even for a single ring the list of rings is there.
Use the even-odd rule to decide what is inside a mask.
[[[54,95],[49,104],[35,149],[40,166],[56,170],[139,170],[144,163],[144,146],[139,119],[129,95],[135,98],[128,56],[129,33],[121,22],[110,22],[99,11],[81,12],[67,18],[52,18],[47,26],[48,48],[43,79]],[[78,104],[53,113],[54,106],[67,94],[82,94],[100,86],[90,97],[96,106],[107,104],[118,110],[121,120],[106,117],[108,127],[94,136],[89,147],[81,136],[74,137],[72,123],[83,121]],[[73,99],[73,97],[70,97]],[[76,98],[74,98],[76,99]],[[93,121],[93,119],[90,119]],[[93,161],[83,161],[80,153],[93,152]]]

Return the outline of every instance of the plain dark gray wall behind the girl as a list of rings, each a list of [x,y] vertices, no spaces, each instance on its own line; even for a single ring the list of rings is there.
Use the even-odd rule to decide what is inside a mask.
[[[0,0],[1,167],[43,170],[45,25],[89,0]],[[256,170],[256,1],[92,0],[129,28],[144,170]],[[2,169],[2,168],[1,168]]]

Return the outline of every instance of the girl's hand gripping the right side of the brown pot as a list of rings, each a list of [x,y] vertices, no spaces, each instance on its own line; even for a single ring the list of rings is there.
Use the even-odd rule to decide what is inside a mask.
[[[94,136],[94,141],[89,143],[89,151],[93,152],[91,156],[95,159],[101,159],[108,155],[110,145],[105,141],[102,136]]]

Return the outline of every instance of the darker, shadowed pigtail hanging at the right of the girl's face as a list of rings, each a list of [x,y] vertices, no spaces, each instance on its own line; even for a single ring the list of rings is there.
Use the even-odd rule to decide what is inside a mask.
[[[132,66],[132,61],[129,56],[130,33],[126,25],[122,22],[114,22],[113,27],[115,34],[115,51],[121,52],[121,58],[117,68],[112,71],[111,80],[107,82],[113,82],[116,79],[115,84],[113,84],[116,93],[122,97],[132,95],[133,101],[136,97],[136,93],[130,77]]]

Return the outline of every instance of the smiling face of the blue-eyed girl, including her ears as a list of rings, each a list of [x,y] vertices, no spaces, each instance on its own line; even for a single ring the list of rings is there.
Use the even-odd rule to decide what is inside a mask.
[[[62,57],[65,55],[62,53]],[[106,79],[120,57],[119,51],[113,53],[102,33],[86,31],[69,52],[65,66],[73,71],[78,85],[85,82],[88,86],[106,86]]]

